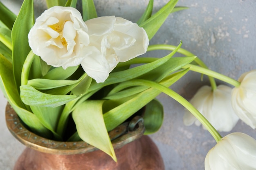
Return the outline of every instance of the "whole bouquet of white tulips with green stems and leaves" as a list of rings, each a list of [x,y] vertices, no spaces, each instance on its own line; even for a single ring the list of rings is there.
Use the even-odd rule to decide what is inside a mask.
[[[185,125],[202,124],[216,140],[205,159],[207,170],[256,169],[254,139],[218,133],[230,131],[239,118],[255,128],[256,71],[236,81],[209,70],[181,48],[182,42],[149,45],[170,13],[186,9],[175,7],[178,0],[155,14],[149,0],[137,23],[98,17],[93,0],[82,0],[82,13],[75,8],[77,0],[46,1],[49,9],[35,22],[33,0],[24,0],[18,16],[0,2],[0,88],[32,132],[58,141],[83,140],[117,161],[108,132],[153,104],[156,109],[146,109],[143,117],[145,134],[157,132],[164,113],[155,97],[164,92],[186,107]],[[153,50],[171,53],[138,57]],[[175,53],[180,57],[172,57]],[[169,88],[189,71],[209,76],[211,83],[191,103]],[[234,89],[217,87],[214,78]]]

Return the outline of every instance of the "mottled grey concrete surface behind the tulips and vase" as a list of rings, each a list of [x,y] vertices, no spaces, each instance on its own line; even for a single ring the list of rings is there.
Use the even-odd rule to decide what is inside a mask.
[[[1,0],[15,13],[22,0]],[[45,8],[35,0],[35,13]],[[99,16],[120,16],[136,22],[148,0],[95,0]],[[168,0],[155,0],[155,11]],[[256,69],[256,1],[254,0],[180,0],[179,6],[189,9],[171,14],[151,44],[178,45],[200,57],[209,68],[232,78]],[[148,55],[162,57],[166,51]],[[217,81],[218,83],[222,83]],[[207,77],[189,72],[171,88],[190,99],[196,90],[209,84]],[[157,97],[164,105],[165,118],[159,132],[150,135],[164,159],[166,170],[203,170],[204,157],[216,144],[201,127],[183,125],[184,108],[165,94]],[[24,149],[9,133],[4,120],[6,100],[0,92],[0,169],[11,170]],[[256,139],[256,131],[239,121],[231,132],[245,132]],[[221,133],[222,136],[228,134]]]

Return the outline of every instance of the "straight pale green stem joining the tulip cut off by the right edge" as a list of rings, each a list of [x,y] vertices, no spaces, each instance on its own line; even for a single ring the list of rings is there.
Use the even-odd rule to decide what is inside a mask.
[[[186,68],[189,68],[191,71],[194,71],[194,72],[198,72],[198,73],[202,73],[202,74],[205,74],[207,76],[211,76],[211,77],[214,77],[214,78],[217,78],[221,81],[224,81],[226,83],[229,83],[235,87],[239,87],[240,86],[240,82],[236,81],[235,79],[233,78],[230,78],[228,76],[225,76],[223,74],[220,74],[218,72],[214,72],[210,69],[206,69],[206,68],[202,68],[202,67],[199,67],[199,66],[196,66],[196,65],[191,65],[191,64],[188,64],[184,67],[182,67],[184,69]]]

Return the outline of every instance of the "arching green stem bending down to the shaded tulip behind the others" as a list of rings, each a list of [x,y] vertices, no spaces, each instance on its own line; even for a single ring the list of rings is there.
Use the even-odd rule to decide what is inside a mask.
[[[159,44],[159,45],[150,45],[150,46],[148,46],[148,51],[153,51],[153,50],[170,50],[170,51],[173,51],[175,48],[177,48],[177,47],[174,46],[174,45]],[[180,53],[180,54],[183,54],[184,56],[195,56],[195,54],[187,51],[186,49],[182,49],[182,48],[179,48],[177,52]],[[194,61],[195,61],[195,63],[197,63],[201,67],[208,69],[207,65],[205,65],[205,63],[200,58],[197,57],[197,58],[195,58]],[[217,88],[217,85],[216,85],[216,82],[215,82],[214,78],[211,77],[211,76],[208,76],[208,77],[209,77],[209,81],[210,81],[210,84],[211,84],[211,89],[215,90]]]

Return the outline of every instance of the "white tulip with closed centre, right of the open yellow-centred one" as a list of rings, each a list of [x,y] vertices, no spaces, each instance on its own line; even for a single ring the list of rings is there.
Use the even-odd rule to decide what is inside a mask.
[[[124,18],[104,16],[87,20],[85,24],[92,48],[81,65],[97,83],[104,82],[119,62],[135,58],[147,50],[146,31]]]

